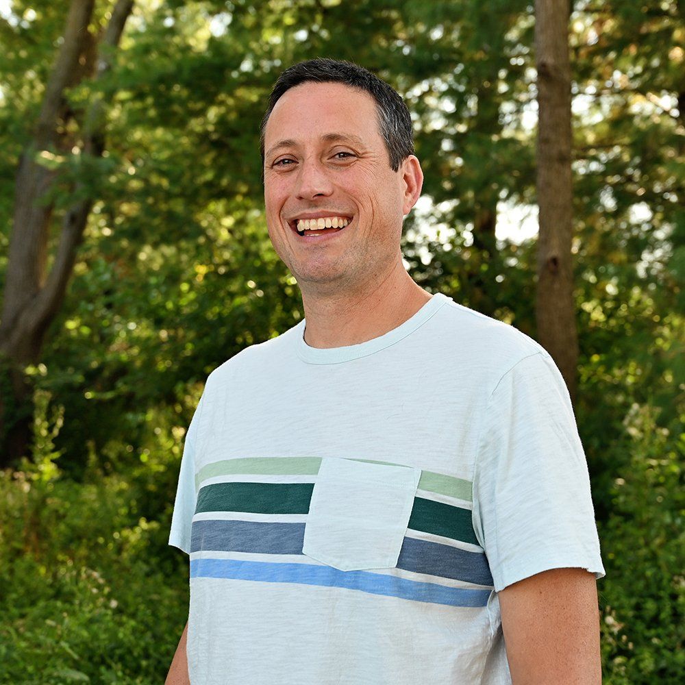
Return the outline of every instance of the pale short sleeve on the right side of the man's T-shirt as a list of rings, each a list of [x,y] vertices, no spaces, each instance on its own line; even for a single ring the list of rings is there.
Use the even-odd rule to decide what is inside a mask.
[[[514,364],[488,399],[473,523],[495,590],[549,569],[600,578],[590,478],[566,383],[545,352]]]

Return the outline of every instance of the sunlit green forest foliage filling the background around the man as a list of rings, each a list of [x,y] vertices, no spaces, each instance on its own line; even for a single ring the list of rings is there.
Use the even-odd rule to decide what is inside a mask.
[[[64,280],[23,368],[30,410],[0,376],[0,438],[12,411],[31,438],[0,457],[1,683],[164,679],[188,612],[188,560],[166,543],[190,416],[212,369],[303,316],[258,150],[289,64],[349,59],[401,92],[425,171],[408,270],[537,334],[530,3],[97,2],[99,42],[46,138],[68,13],[93,4],[0,1],[0,284],[21,159],[47,216],[36,277]],[[643,0],[578,0],[569,17],[575,413],[612,685],[685,670],[684,19]]]

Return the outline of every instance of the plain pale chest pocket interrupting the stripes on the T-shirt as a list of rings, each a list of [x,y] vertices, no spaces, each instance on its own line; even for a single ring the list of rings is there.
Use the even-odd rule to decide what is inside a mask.
[[[420,477],[409,466],[322,459],[303,554],[340,571],[395,568]]]

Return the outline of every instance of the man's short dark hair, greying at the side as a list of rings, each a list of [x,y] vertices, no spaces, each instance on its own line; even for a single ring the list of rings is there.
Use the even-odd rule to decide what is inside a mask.
[[[288,67],[277,79],[271,95],[269,95],[269,107],[266,109],[262,124],[260,125],[260,153],[262,155],[262,173],[264,169],[264,132],[266,122],[269,121],[271,111],[279,98],[294,86],[306,82],[315,83],[340,83],[350,88],[366,90],[376,102],[378,113],[378,128],[385,141],[390,167],[393,171],[399,169],[399,165],[409,155],[414,154],[414,132],[412,130],[412,117],[409,109],[399,93],[375,74],[363,66],[348,62],[347,60],[332,60],[329,58],[316,58],[299,62]],[[262,176],[263,178],[263,176]]]

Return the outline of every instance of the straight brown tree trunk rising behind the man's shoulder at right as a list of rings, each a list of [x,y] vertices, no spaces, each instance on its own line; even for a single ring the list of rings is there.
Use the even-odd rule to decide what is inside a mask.
[[[575,399],[578,336],[571,262],[569,2],[536,0],[535,14],[540,217],[536,296],[538,341],[554,358],[571,398]]]

